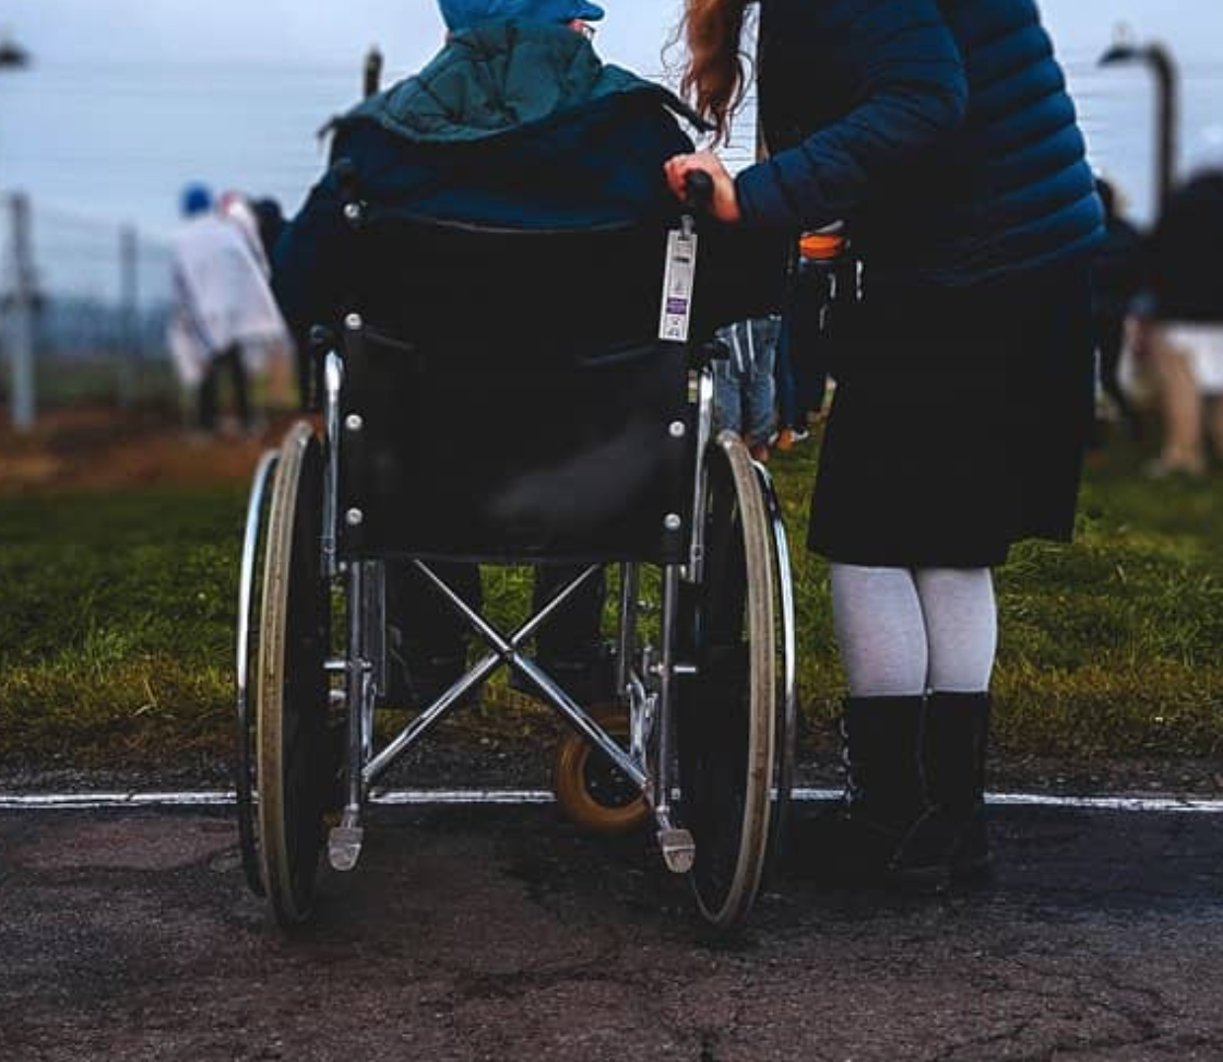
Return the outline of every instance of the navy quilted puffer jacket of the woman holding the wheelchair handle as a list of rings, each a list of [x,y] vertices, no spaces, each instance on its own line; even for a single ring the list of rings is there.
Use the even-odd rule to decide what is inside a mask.
[[[763,0],[772,158],[748,224],[848,220],[872,270],[967,285],[1102,237],[1074,104],[1033,0]]]

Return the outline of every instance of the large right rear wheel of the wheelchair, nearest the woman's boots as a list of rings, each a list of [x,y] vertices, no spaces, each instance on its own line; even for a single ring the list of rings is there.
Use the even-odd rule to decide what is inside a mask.
[[[777,733],[777,576],[761,481],[742,440],[709,451],[704,577],[685,589],[680,808],[696,843],[701,915],[731,929],[751,910],[769,847]]]

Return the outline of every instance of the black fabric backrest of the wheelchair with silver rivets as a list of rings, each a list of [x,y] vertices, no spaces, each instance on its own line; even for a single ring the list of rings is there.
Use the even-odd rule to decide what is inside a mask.
[[[681,560],[692,347],[658,340],[667,239],[366,217],[344,389],[362,428],[340,447],[360,519],[341,551]],[[768,290],[742,246],[703,243],[693,345]]]

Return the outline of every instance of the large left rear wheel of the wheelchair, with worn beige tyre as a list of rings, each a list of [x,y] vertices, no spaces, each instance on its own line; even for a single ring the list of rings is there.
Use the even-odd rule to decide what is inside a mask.
[[[336,795],[322,516],[322,448],[302,422],[285,437],[273,486],[256,685],[262,878],[286,927],[311,915],[324,815]]]

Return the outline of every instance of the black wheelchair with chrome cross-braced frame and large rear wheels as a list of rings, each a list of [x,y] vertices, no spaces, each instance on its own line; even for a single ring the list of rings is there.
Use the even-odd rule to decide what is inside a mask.
[[[591,781],[614,777],[700,918],[740,925],[785,828],[797,722],[781,510],[739,437],[714,434],[717,354],[700,307],[719,284],[742,286],[740,263],[711,250],[706,264],[702,251],[691,332],[660,340],[663,225],[498,230],[347,198],[351,301],[342,334],[316,335],[322,431],[301,420],[262,458],[247,511],[236,782],[248,886],[281,927],[309,920],[324,855],[336,871],[357,865],[389,768],[510,668],[572,729],[563,801],[596,822],[640,821]],[[682,226],[704,241],[697,210]],[[408,247],[427,264],[406,263]],[[456,436],[460,412],[489,431]],[[439,571],[455,560],[574,574],[503,630]],[[415,569],[487,651],[386,739],[389,565]],[[600,571],[619,575],[610,711],[578,704],[528,652]]]

